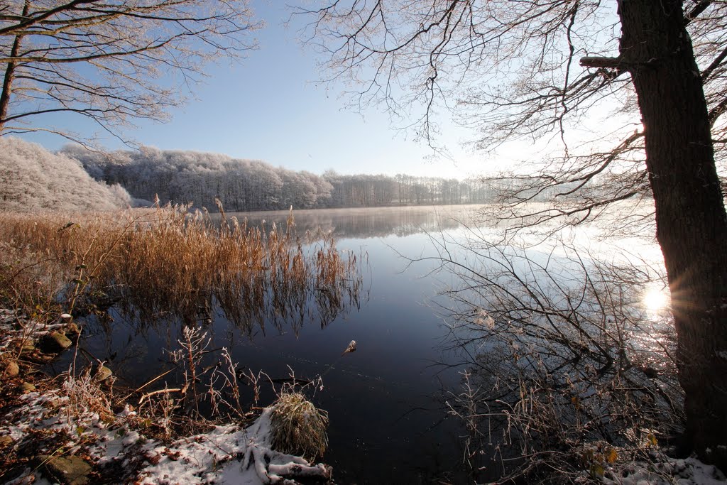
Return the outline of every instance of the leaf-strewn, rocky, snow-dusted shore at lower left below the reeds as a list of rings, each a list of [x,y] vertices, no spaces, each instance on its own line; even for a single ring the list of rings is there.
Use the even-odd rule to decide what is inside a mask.
[[[73,334],[77,327],[70,321],[44,329],[34,329],[36,325],[41,326],[15,310],[0,309],[0,385],[5,396],[0,403],[0,479],[7,484],[331,480],[329,466],[273,449],[276,404],[258,409],[252,422],[206,420],[198,422],[207,428],[204,432],[147,437],[144,428],[150,430],[150,422],[134,409],[129,399],[133,394],[126,396],[125,403],[112,403],[105,397],[108,385],[104,382],[113,379],[100,372],[105,367],[76,376],[51,377],[40,372],[43,361],[57,354],[39,359],[39,350],[30,350],[29,342],[41,342],[52,332]]]

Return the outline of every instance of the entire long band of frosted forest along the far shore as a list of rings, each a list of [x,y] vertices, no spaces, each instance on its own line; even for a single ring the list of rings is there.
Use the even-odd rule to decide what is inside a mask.
[[[138,151],[99,153],[78,145],[61,151],[81,162],[89,175],[119,184],[134,199],[162,204],[190,204],[216,210],[277,210],[294,207],[386,207],[396,205],[481,204],[495,194],[497,180],[467,180],[410,175],[316,175],[273,167],[262,161],[233,159],[218,153]]]

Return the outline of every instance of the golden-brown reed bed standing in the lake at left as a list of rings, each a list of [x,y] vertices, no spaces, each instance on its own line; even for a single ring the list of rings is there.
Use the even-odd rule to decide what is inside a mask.
[[[248,227],[188,207],[114,213],[0,214],[0,297],[36,317],[116,305],[185,323],[225,316],[256,324],[329,323],[358,302],[361,271],[331,236]]]

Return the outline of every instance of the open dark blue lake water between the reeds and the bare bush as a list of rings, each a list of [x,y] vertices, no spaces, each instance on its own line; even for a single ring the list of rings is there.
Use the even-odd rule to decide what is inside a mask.
[[[432,254],[427,232],[456,233],[473,207],[326,209],[295,213],[297,230],[332,230],[339,249],[368,255],[360,308],[348,308],[332,323],[306,321],[300,332],[286,326],[258,328],[252,338],[212,311],[206,326],[213,347],[230,349],[233,361],[273,379],[289,368],[303,379],[324,374],[314,403],[329,412],[329,451],[338,483],[461,482],[461,423],[446,414],[444,401],[459,384],[457,356],[447,353],[449,328],[438,316],[436,294],[443,276],[432,264],[406,268],[409,257]],[[285,212],[248,215],[249,223],[283,224]],[[406,269],[406,270],[405,270]],[[126,321],[91,325],[82,345],[108,360],[121,384],[141,385],[168,368],[163,349],[176,349],[178,324]],[[355,353],[341,356],[350,340]],[[62,367],[63,362],[57,364]],[[67,364],[66,364],[67,365]],[[330,367],[330,368],[329,368]],[[169,383],[172,387],[172,382]],[[268,386],[269,387],[269,386]],[[451,397],[451,396],[449,396]],[[266,401],[268,398],[268,401]],[[269,391],[262,404],[272,398]]]

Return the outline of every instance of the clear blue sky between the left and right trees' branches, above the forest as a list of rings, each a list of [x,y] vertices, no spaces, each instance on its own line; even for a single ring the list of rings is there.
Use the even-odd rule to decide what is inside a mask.
[[[194,90],[196,99],[173,110],[171,121],[138,122],[126,135],[162,149],[226,153],[314,173],[466,177],[493,167],[485,154],[459,148],[463,133],[453,126],[441,142],[454,161],[431,158],[430,149],[395,129],[386,113],[346,109],[342,87],[316,84],[316,58],[297,43],[295,28],[284,27],[284,2],[256,1],[254,9],[267,23],[256,33],[260,49],[239,64],[210,65],[209,77]],[[73,122],[84,129],[82,121]],[[45,135],[28,138],[52,150],[66,143]],[[104,145],[123,148],[114,140]]]

